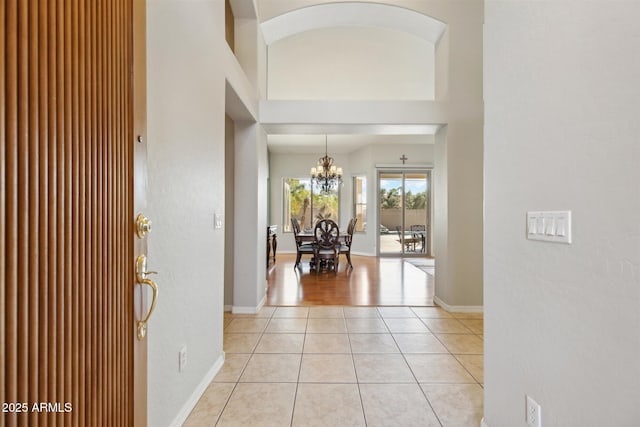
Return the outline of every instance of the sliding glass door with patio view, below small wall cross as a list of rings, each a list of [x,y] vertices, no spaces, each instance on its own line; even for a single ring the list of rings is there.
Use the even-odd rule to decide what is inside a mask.
[[[429,170],[378,172],[380,255],[430,255],[430,181]]]

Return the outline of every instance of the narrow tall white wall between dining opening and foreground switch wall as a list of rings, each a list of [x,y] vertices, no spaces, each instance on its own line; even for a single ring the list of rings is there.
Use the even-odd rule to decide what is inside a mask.
[[[482,300],[483,203],[483,3],[433,2],[434,15],[448,24],[442,42],[448,48],[447,109],[447,259],[436,271],[435,299],[453,310],[477,307]],[[436,168],[438,164],[436,163]],[[436,248],[437,250],[437,248]],[[436,259],[440,258],[439,254]],[[446,277],[446,281],[442,280]]]

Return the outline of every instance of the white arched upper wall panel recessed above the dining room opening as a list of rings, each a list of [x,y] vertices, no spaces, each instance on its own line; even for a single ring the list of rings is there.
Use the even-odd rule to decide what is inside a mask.
[[[434,46],[388,28],[305,31],[269,46],[268,88],[269,99],[433,99]]]

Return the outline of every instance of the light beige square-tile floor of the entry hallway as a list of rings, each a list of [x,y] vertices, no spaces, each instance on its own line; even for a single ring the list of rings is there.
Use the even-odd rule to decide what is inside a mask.
[[[482,314],[265,307],[225,314],[225,363],[185,426],[478,427]]]

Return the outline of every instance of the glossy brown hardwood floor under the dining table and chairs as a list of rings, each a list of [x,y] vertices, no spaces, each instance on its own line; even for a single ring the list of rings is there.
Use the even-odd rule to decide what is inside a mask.
[[[338,273],[294,268],[295,254],[278,254],[267,270],[267,305],[432,306],[433,276],[402,258],[340,258]]]

